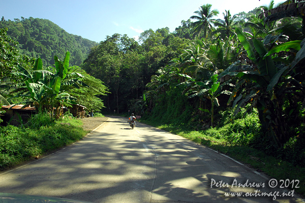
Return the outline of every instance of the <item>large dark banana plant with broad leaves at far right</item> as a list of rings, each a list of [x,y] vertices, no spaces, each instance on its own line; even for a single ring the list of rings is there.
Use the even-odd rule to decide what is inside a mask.
[[[305,41],[276,45],[280,36],[267,36],[264,43],[253,39],[253,48],[239,28],[235,31],[247,55],[242,57],[244,63],[237,61],[220,74],[219,78],[230,75],[241,79],[232,91],[228,104],[234,99],[236,112],[249,102],[251,106],[247,111],[257,107],[262,127],[274,141],[275,147],[279,148],[289,138],[282,109],[284,95],[291,91],[303,91],[302,83],[294,76],[298,74],[296,67],[305,57]],[[271,48],[268,50],[268,47]],[[279,56],[283,52],[286,57]],[[295,57],[293,53],[296,53]],[[241,92],[239,96],[238,92]]]

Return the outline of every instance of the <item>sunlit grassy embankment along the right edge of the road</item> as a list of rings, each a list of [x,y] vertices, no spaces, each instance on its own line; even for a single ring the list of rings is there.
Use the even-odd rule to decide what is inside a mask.
[[[283,148],[277,150],[270,145],[269,138],[264,136],[257,112],[254,111],[245,118],[242,115],[243,113],[240,112],[234,117],[232,109],[220,111],[217,118],[218,126],[209,129],[201,128],[202,120],[200,121],[199,117],[189,117],[182,122],[181,118],[186,116],[183,112],[180,116],[173,116],[170,113],[167,116],[163,113],[162,116],[157,117],[153,112],[150,117],[142,117],[139,121],[229,155],[278,181],[299,180],[299,188],[293,189],[305,196],[303,143],[291,139]]]

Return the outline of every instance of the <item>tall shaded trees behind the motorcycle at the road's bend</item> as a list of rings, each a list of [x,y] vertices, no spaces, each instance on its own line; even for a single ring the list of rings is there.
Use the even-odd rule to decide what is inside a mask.
[[[189,40],[175,37],[166,27],[144,31],[139,41],[127,35],[107,36],[84,61],[82,68],[105,82],[111,92],[104,97],[108,112],[127,112],[142,98],[150,76],[176,57]]]

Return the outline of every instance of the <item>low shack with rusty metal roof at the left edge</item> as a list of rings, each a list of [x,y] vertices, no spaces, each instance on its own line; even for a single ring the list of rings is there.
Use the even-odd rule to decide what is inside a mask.
[[[27,106],[22,108],[23,106],[24,105],[22,104],[2,106],[2,110],[5,110],[6,112],[1,116],[1,119],[3,120],[1,124],[7,125],[10,123],[10,125],[19,126],[20,124],[26,123],[33,114],[36,114],[35,107]]]

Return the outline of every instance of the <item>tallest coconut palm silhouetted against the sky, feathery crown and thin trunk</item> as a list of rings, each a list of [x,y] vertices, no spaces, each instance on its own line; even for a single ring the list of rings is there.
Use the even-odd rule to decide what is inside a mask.
[[[195,11],[197,15],[193,15],[190,18],[196,19],[198,21],[193,22],[195,27],[195,33],[200,35],[201,30],[204,29],[204,38],[206,43],[207,31],[211,29],[211,22],[214,22],[214,19],[211,19],[213,16],[217,16],[219,11],[217,9],[211,10],[212,5],[206,4],[199,7],[199,11]]]

